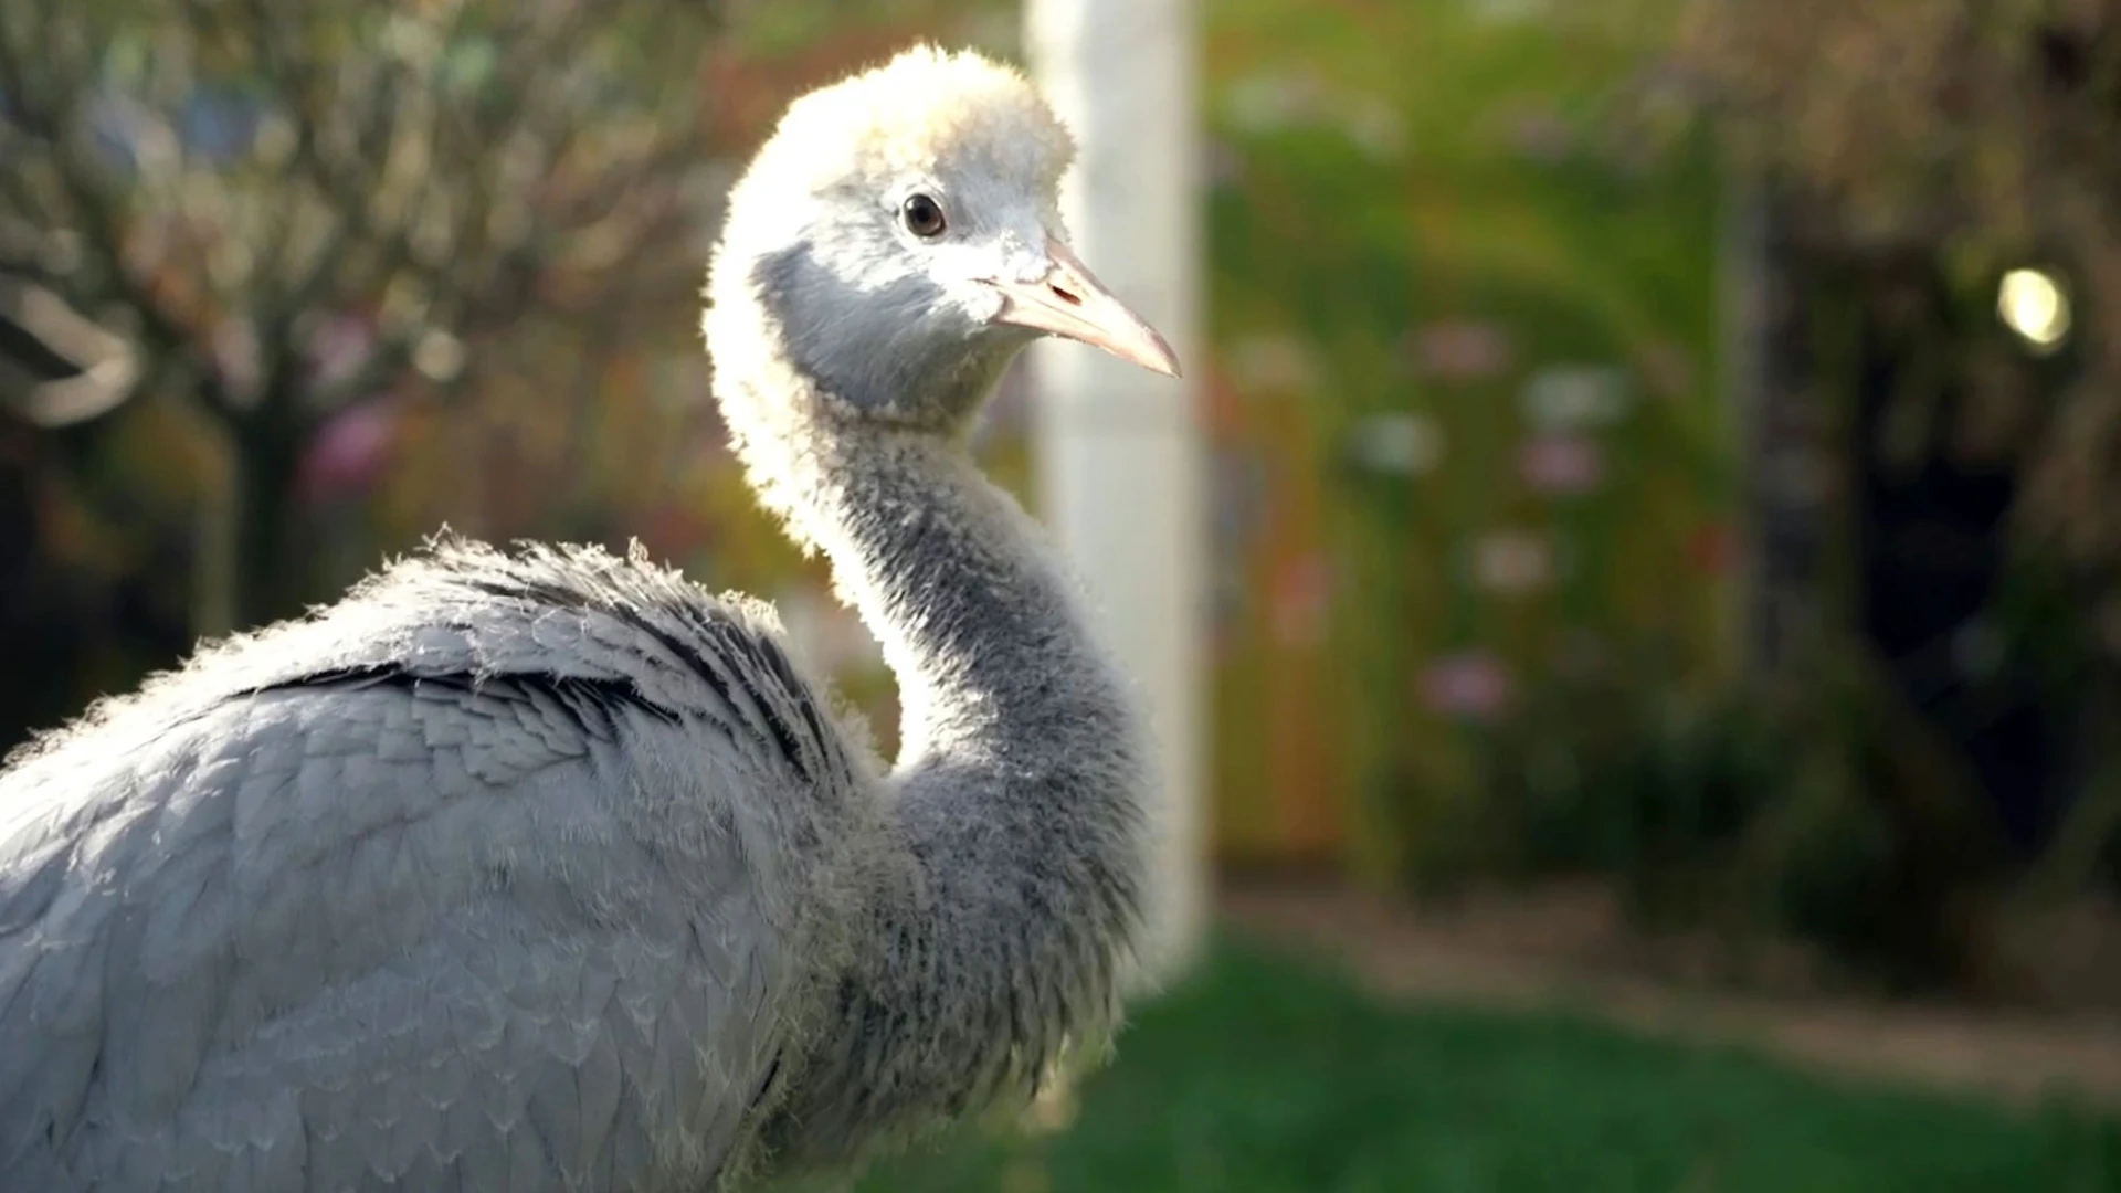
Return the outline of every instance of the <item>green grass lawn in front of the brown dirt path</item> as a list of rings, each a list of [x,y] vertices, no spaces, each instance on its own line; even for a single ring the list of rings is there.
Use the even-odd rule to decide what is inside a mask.
[[[963,1131],[859,1193],[2117,1191],[2121,1123],[1856,1089],[1567,1017],[1393,1008],[1222,947],[1052,1138]]]

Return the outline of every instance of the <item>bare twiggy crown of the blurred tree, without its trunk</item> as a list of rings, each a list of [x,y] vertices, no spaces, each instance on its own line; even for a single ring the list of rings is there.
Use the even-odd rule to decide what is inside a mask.
[[[136,30],[170,49],[129,117],[161,155],[146,155],[142,176],[115,178],[59,115],[91,96],[93,59],[81,53],[102,42],[59,8],[6,11],[21,8],[40,13],[34,30],[0,30],[0,87],[23,119],[0,138],[34,149],[11,159],[36,168],[0,178],[0,212],[76,236],[85,267],[62,276],[32,253],[0,255],[0,267],[64,289],[85,310],[127,308],[148,357],[201,365],[206,401],[227,420],[280,412],[250,410],[204,367],[201,321],[257,329],[257,384],[238,384],[259,401],[329,408],[409,367],[431,331],[475,340],[539,304],[624,284],[621,267],[674,223],[674,178],[698,157],[689,110],[626,117],[613,100],[632,79],[592,53],[621,17],[598,2],[460,0],[416,15],[178,0],[174,17]],[[72,34],[57,38],[55,23]],[[23,47],[42,53],[53,38],[81,53],[59,53],[51,79],[21,79]],[[227,168],[197,159],[165,115],[214,55],[271,96],[276,142]],[[649,136],[626,134],[626,119]],[[138,261],[151,244],[153,284]],[[163,278],[191,278],[193,297],[172,306]],[[384,338],[350,376],[310,384],[305,327],[335,306],[380,312]]]

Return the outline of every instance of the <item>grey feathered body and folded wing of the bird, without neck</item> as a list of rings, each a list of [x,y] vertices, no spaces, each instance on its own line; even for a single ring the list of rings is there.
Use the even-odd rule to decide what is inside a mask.
[[[783,1044],[774,809],[853,764],[660,584],[445,550],[0,773],[8,1187],[711,1176]]]

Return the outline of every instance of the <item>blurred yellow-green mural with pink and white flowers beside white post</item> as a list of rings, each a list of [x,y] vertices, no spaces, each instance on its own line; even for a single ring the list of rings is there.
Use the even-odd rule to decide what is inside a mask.
[[[1237,401],[1302,403],[1334,461],[1324,546],[1351,717],[1321,728],[1351,760],[1372,875],[1404,872],[1485,798],[1495,709],[1440,707],[1438,667],[1529,696],[1582,645],[1648,630],[1682,675],[1726,664],[1722,560],[1701,550],[1735,492],[1716,168],[1705,138],[1654,117],[1673,6],[1480,8],[1209,13],[1213,331]],[[1563,371],[1610,384],[1606,408],[1542,410]],[[1593,476],[1536,478],[1540,452]]]

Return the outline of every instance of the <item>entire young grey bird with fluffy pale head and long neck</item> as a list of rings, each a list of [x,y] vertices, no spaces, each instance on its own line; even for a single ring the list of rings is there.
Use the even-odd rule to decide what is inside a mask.
[[[732,193],[715,393],[884,643],[895,764],[638,552],[448,539],[201,650],[0,773],[0,1189],[728,1187],[1094,1047],[1139,724],[961,450],[1031,335],[1175,369],[1060,246],[1065,155],[923,49]]]

